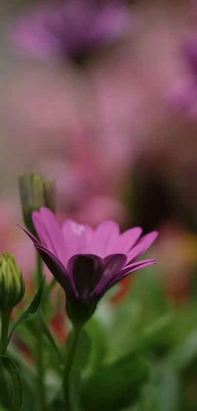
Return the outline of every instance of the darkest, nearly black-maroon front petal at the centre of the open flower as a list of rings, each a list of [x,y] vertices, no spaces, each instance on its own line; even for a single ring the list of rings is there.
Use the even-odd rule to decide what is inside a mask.
[[[69,259],[66,268],[69,277],[74,280],[79,297],[89,298],[102,277],[104,264],[96,255],[78,254]]]

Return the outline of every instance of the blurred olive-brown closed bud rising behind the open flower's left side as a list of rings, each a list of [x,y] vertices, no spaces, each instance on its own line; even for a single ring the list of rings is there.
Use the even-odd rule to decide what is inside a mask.
[[[37,237],[31,216],[33,211],[39,211],[44,206],[55,211],[55,180],[47,180],[42,174],[20,175],[19,192],[24,223]]]

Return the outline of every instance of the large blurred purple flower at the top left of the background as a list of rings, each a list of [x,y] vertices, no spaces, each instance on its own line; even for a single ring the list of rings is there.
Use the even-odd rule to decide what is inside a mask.
[[[23,15],[12,37],[39,58],[73,57],[109,45],[129,30],[128,6],[121,0],[60,0]]]

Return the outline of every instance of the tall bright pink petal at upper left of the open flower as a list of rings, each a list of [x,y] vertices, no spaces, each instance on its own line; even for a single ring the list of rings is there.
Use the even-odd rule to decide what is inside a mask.
[[[32,214],[32,220],[44,246],[53,252],[66,266],[64,237],[52,211],[47,207],[42,207],[40,212]]]

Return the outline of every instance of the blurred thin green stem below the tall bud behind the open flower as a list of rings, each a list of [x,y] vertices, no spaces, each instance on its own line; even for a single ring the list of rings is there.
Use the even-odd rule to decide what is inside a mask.
[[[40,255],[37,255],[37,286],[40,287],[43,281],[43,262]],[[43,299],[42,299],[43,300]],[[43,304],[41,302],[41,309]],[[40,319],[38,318],[38,334],[37,334],[37,347],[36,347],[36,368],[37,368],[37,392],[40,405],[40,411],[47,411],[46,405],[46,392],[44,385],[44,338],[43,332],[40,329]]]

